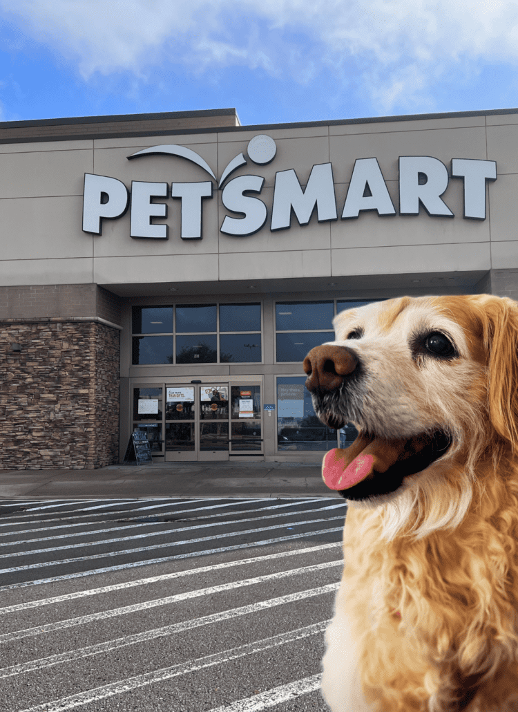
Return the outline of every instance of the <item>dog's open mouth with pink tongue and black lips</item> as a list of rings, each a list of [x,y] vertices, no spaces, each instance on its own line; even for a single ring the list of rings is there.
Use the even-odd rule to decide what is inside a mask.
[[[403,478],[425,470],[445,454],[448,434],[436,431],[410,439],[386,440],[360,433],[347,449],[334,448],[324,457],[322,478],[346,499],[388,494]]]

